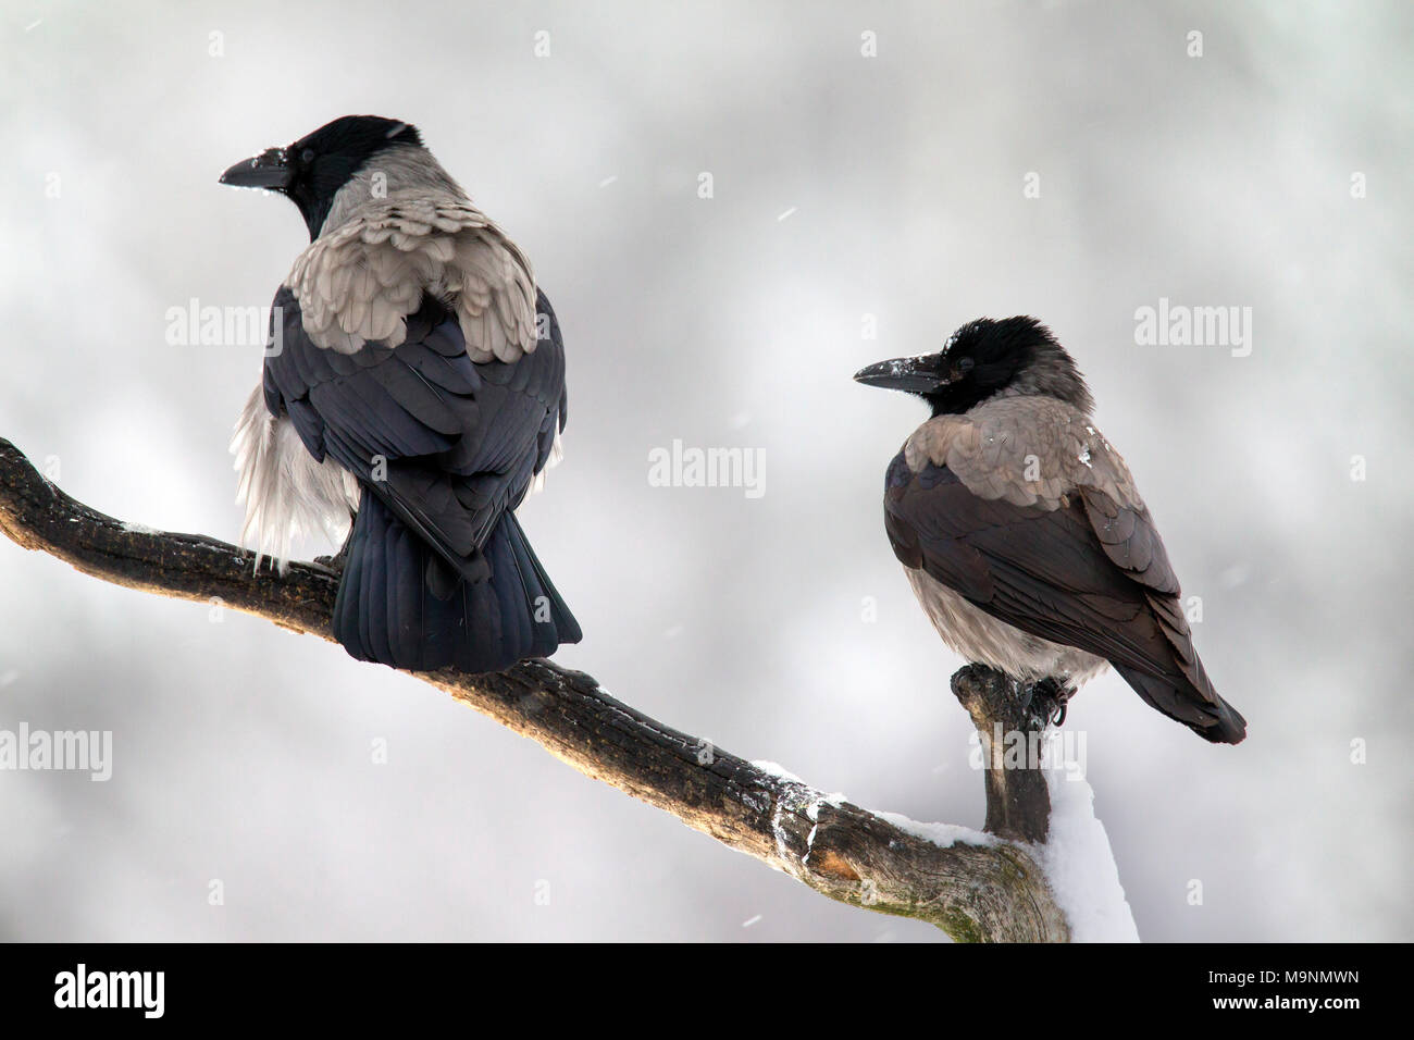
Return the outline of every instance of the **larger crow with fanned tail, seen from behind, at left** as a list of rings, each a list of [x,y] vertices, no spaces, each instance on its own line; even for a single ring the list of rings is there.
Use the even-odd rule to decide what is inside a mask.
[[[361,661],[492,672],[578,642],[512,512],[566,417],[560,327],[516,245],[393,119],[335,119],[221,183],[286,195],[311,239],[232,441],[243,541],[283,562],[352,522],[334,635]]]

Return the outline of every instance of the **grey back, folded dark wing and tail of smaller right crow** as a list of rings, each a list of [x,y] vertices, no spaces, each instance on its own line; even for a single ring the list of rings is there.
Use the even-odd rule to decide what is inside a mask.
[[[1240,739],[1123,458],[1075,409],[1004,399],[930,420],[889,467],[885,526],[905,566],[1024,632],[1106,658],[1202,736]]]

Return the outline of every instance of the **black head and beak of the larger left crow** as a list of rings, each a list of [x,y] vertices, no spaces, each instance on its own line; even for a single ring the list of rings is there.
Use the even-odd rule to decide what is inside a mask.
[[[222,184],[267,188],[300,207],[310,238],[320,233],[338,190],[379,153],[400,144],[420,146],[417,127],[382,116],[344,116],[284,149],[267,149],[221,174]]]

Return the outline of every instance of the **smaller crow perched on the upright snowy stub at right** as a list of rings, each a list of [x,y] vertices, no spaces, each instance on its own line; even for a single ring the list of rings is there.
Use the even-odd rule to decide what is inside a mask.
[[[1246,736],[1198,659],[1134,478],[1051,330],[981,318],[940,354],[854,378],[932,409],[888,467],[884,526],[949,647],[1028,683],[1060,719],[1109,662],[1205,740]]]

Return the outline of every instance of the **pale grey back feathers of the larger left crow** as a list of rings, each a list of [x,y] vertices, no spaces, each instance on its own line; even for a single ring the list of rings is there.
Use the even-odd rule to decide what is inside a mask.
[[[318,347],[396,347],[423,293],[450,301],[472,361],[516,361],[536,347],[530,263],[457,195],[392,192],[361,205],[296,260],[286,284]]]

